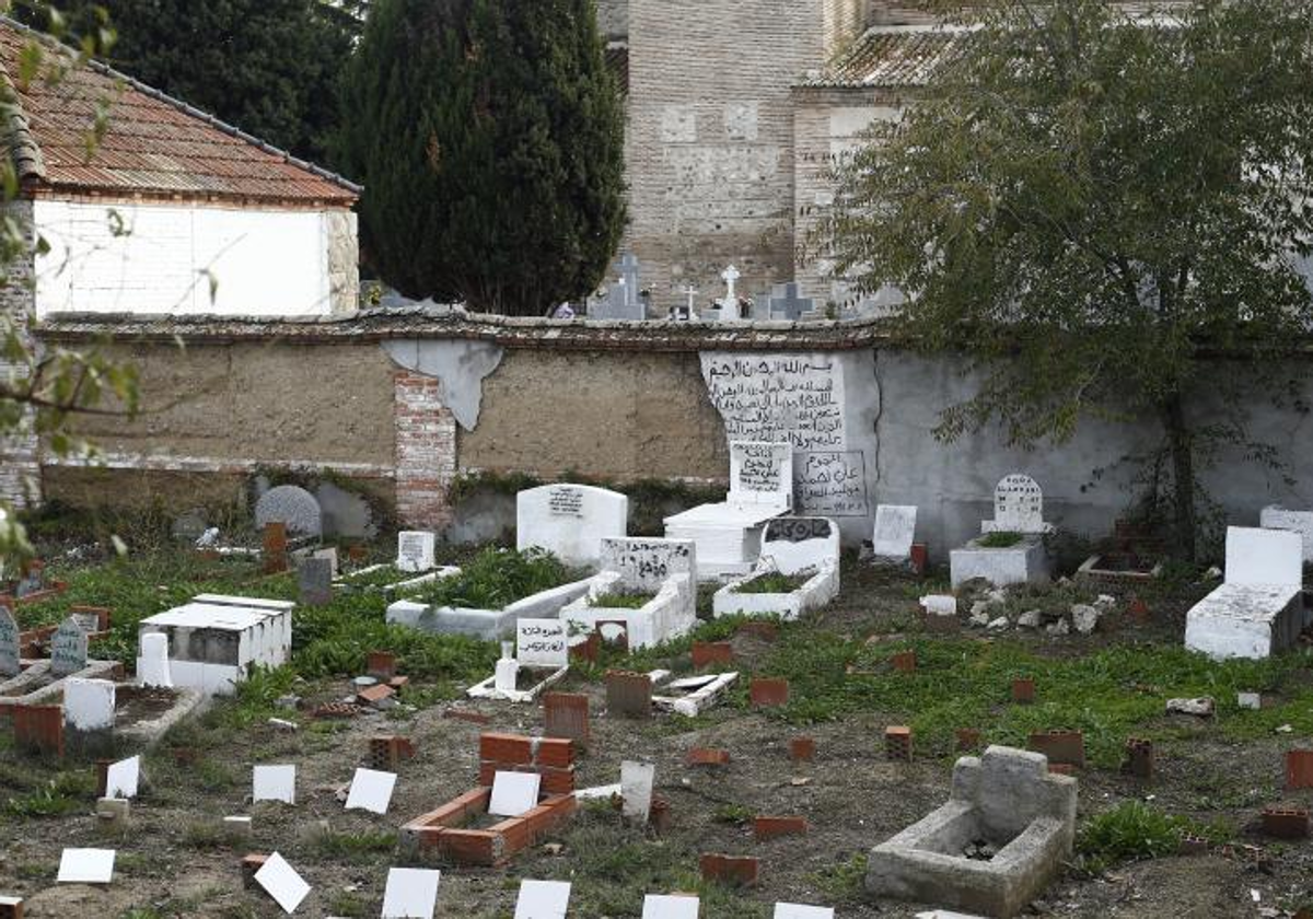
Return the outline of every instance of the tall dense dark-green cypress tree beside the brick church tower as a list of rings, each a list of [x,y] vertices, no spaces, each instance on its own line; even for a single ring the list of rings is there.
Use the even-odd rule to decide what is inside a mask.
[[[624,125],[592,0],[376,0],[344,105],[364,249],[389,284],[541,315],[601,280]]]

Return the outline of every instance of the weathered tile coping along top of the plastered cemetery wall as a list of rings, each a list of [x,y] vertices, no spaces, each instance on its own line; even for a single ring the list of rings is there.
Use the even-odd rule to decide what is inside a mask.
[[[138,343],[360,344],[394,339],[465,339],[503,348],[562,351],[855,351],[888,343],[888,319],[823,322],[613,322],[512,318],[466,312],[461,307],[407,306],[370,309],[341,318],[284,319],[248,316],[142,316],[60,314],[43,320],[46,341],[95,339]]]

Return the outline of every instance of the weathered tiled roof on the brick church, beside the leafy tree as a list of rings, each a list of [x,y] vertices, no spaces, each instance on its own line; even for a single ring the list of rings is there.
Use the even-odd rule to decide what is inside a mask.
[[[924,87],[961,53],[969,32],[948,28],[877,26],[805,87]]]

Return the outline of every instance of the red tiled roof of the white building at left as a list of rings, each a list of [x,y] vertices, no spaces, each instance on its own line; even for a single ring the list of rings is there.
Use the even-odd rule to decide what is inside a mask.
[[[0,17],[0,92],[17,108],[4,119],[9,155],[35,188],[75,193],[324,202],[349,206],[360,186],[277,150],[97,62],[56,83],[21,81],[20,55],[33,41],[47,55],[68,49]],[[45,66],[42,72],[45,74]],[[97,106],[108,130],[88,158]]]

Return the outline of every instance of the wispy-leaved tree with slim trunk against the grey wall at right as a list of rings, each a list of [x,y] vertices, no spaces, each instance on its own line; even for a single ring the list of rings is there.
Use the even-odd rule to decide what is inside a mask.
[[[962,353],[973,398],[936,431],[1062,441],[1155,419],[1154,494],[1194,558],[1199,474],[1313,323],[1313,4],[1196,0],[1137,20],[1104,0],[991,0],[953,66],[842,169],[836,269],[909,295],[920,347]],[[1217,357],[1238,360],[1215,360]],[[1262,457],[1262,453],[1251,456]]]

